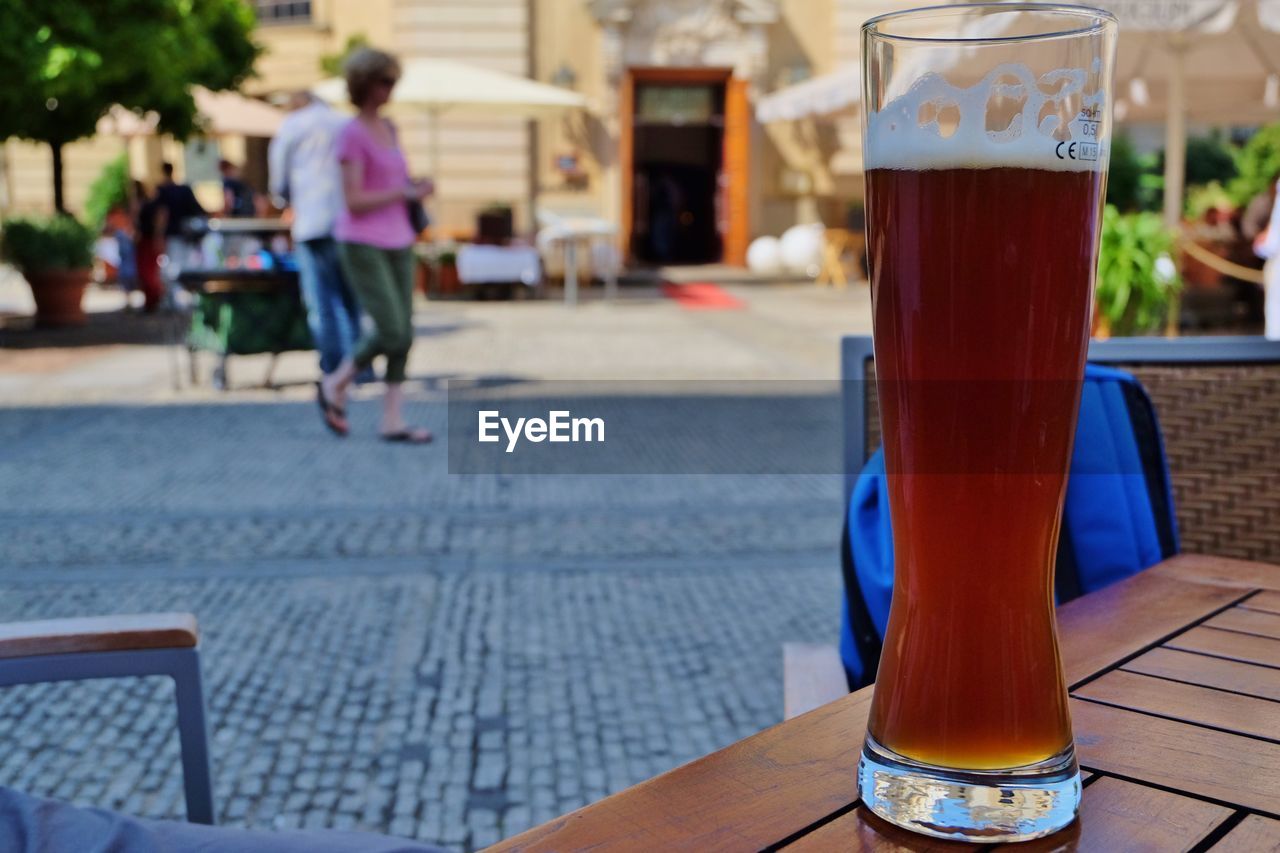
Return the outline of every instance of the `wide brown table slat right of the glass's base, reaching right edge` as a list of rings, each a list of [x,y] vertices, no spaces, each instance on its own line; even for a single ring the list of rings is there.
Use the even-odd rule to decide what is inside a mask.
[[[1071,719],[1085,767],[1280,813],[1280,744],[1080,699]]]

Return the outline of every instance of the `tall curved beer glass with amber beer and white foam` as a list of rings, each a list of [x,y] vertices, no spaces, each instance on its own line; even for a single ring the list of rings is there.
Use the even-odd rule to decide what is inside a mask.
[[[1080,798],[1053,621],[1116,22],[1039,3],[863,27],[867,236],[896,575],[861,797],[1024,840]]]

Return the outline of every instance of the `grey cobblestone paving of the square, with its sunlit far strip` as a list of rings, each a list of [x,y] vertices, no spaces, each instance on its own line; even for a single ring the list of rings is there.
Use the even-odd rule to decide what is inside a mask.
[[[416,375],[572,377],[581,341],[495,352],[559,323],[599,345],[595,377],[649,378],[631,360],[660,338],[691,377],[829,378],[844,297],[792,293],[810,307],[588,306],[594,332],[447,306],[424,323],[470,332],[424,336]],[[174,392],[157,350],[0,352],[0,620],[197,613],[224,824],[479,849],[777,722],[781,644],[835,638],[836,475],[451,475],[443,447],[369,438],[372,401],[338,442],[306,387]],[[431,383],[412,396],[442,429]],[[797,452],[838,429],[833,400],[797,407],[762,429]],[[0,690],[0,738],[3,784],[182,816],[161,679]]]

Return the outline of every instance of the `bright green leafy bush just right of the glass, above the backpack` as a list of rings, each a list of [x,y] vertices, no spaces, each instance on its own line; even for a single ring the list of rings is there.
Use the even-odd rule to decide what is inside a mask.
[[[1107,205],[1094,293],[1112,334],[1142,334],[1165,324],[1181,287],[1172,260],[1161,260],[1172,250],[1174,234],[1160,214],[1121,214]]]

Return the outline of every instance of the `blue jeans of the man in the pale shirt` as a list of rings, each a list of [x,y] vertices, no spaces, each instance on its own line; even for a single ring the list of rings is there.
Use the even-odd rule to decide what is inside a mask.
[[[332,237],[298,241],[294,256],[320,370],[333,373],[360,337],[360,305],[342,274],[338,243]]]

